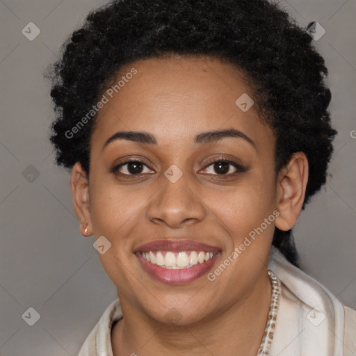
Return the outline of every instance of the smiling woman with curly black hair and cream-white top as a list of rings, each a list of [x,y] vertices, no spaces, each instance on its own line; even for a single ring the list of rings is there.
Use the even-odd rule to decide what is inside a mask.
[[[263,0],[113,1],[67,40],[51,142],[118,290],[80,356],[355,355],[291,236],[336,134],[311,42]]]

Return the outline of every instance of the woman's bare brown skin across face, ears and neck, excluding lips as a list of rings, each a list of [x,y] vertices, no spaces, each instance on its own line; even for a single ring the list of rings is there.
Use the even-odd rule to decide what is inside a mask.
[[[82,234],[104,235],[112,244],[98,256],[118,289],[124,314],[112,330],[113,355],[254,356],[270,305],[273,231],[296,223],[307,158],[294,154],[276,175],[273,131],[254,106],[243,112],[235,104],[243,93],[253,98],[236,67],[215,58],[172,56],[127,65],[118,78],[132,67],[138,73],[99,111],[90,184],[79,163],[71,177]],[[253,145],[236,137],[194,143],[197,134],[222,129],[243,132]],[[117,131],[147,131],[157,143],[121,139],[103,149]],[[211,163],[223,156],[245,171],[227,165],[219,174]],[[120,168],[122,175],[110,172],[130,157],[145,163],[139,177],[122,176],[130,174],[128,165]],[[172,164],[183,173],[174,184],[164,175]],[[280,216],[213,282],[203,275],[188,284],[163,284],[133,253],[148,241],[188,238],[218,246],[221,255],[212,271],[273,211]],[[179,313],[177,323],[167,319],[172,308]]]

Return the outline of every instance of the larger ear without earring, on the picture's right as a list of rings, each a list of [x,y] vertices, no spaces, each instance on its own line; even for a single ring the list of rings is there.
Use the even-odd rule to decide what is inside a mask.
[[[296,225],[302,209],[308,182],[308,160],[303,152],[293,154],[277,177],[277,210],[275,226],[283,231]]]

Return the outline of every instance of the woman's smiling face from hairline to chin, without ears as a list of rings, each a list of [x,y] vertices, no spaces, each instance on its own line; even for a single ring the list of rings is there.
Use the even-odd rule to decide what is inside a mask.
[[[115,83],[133,68],[105,93],[84,215],[111,243],[98,255],[123,309],[204,321],[266,274],[280,199],[275,136],[254,106],[236,104],[253,92],[232,65],[154,58],[123,67]]]

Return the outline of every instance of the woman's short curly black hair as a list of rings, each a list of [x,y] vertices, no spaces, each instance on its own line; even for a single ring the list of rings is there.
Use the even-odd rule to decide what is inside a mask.
[[[327,68],[312,37],[266,0],[116,0],[92,10],[47,68],[56,121],[56,163],[90,168],[95,115],[74,137],[65,134],[98,102],[123,65],[170,54],[210,56],[247,75],[259,114],[276,138],[275,170],[295,152],[309,162],[305,204],[325,184],[337,133],[330,125]],[[275,245],[298,266],[291,230]]]

